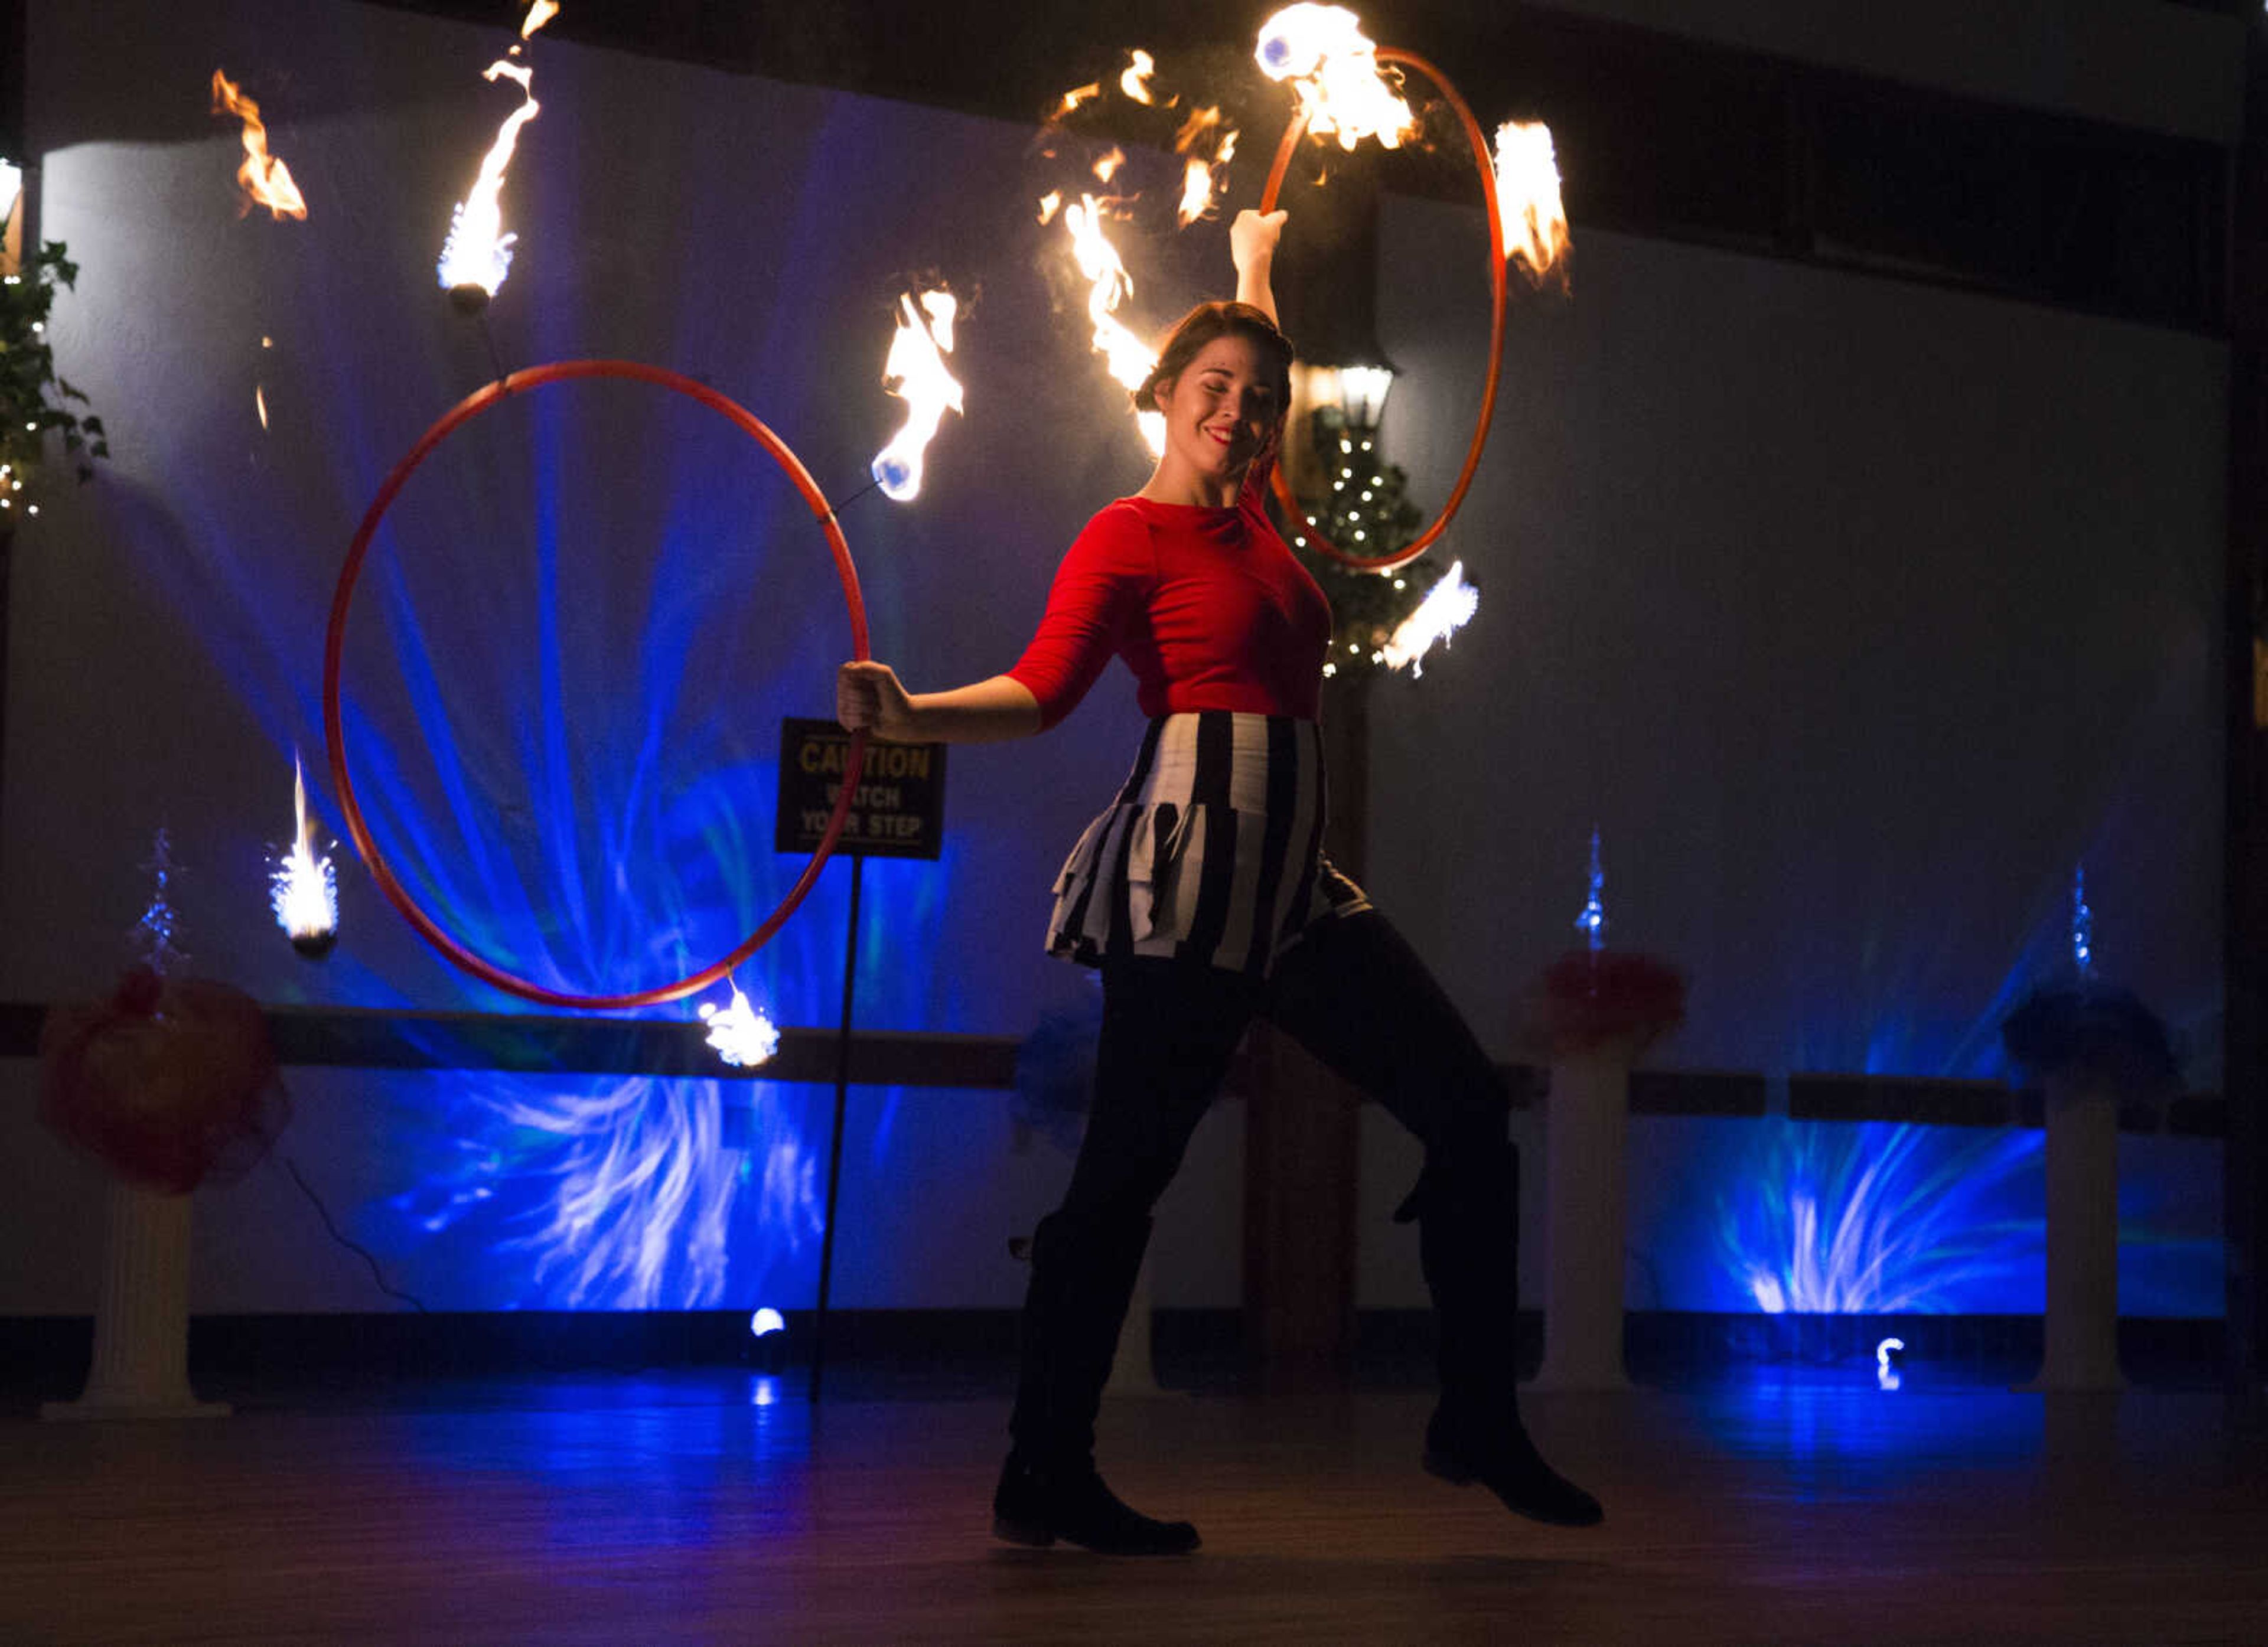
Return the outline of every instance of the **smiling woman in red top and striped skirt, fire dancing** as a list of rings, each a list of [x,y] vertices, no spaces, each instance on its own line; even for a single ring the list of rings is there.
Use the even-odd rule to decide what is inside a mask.
[[[1150,483],[1064,556],[1007,674],[907,694],[846,662],[837,715],[880,737],[1030,737],[1114,656],[1152,717],[1116,805],[1055,882],[1048,948],[1100,966],[1095,1098],[1064,1205],[1032,1236],[1023,1372],[993,1534],[1107,1554],[1198,1547],[1188,1522],[1127,1509],[1095,1472],[1095,1411],[1150,1209],[1254,1016],[1268,1016],[1424,1143],[1397,1221],[1440,1329],[1424,1468],[1481,1481],[1535,1520],[1588,1527],[1599,1502],[1538,1456],[1513,1379],[1517,1155],[1508,1100],[1472,1030],[1363,892],[1322,855],[1315,724],[1331,610],[1268,520],[1290,402],[1270,263],[1284,213],[1229,229],[1236,302],[1193,309],[1134,392],[1166,415]]]

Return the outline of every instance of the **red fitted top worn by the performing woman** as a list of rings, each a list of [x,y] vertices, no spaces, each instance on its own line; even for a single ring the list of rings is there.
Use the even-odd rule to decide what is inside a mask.
[[[1041,728],[1125,658],[1141,712],[1243,710],[1315,719],[1331,603],[1261,504],[1261,470],[1232,508],[1120,497],[1073,540],[1048,610],[1007,672]]]

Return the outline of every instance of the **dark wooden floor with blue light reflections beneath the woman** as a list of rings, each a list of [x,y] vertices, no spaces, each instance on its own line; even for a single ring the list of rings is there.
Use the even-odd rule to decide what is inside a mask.
[[[748,1372],[0,1418],[0,1642],[2268,1642],[2209,1391],[1871,1377],[1531,1397],[1606,1527],[1415,1468],[1424,1395],[1114,1400],[1168,1561],[987,1536],[998,1400]]]

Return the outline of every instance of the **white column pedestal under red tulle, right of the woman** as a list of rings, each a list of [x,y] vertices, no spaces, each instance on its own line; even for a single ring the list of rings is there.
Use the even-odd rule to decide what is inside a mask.
[[[1551,1064],[1545,1098],[1545,1366],[1538,1391],[1622,1391],[1624,1139],[1631,1055]]]

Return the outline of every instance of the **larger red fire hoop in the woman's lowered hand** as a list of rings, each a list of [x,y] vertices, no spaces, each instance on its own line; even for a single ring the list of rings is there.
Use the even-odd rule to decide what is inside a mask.
[[[855,733],[850,737],[850,762],[844,771],[841,794],[835,801],[835,814],[828,819],[828,830],[819,839],[812,862],[803,867],[803,876],[798,876],[796,885],[789,887],[785,898],[780,898],[780,907],[764,917],[764,923],[744,937],[730,955],[710,962],[696,973],[678,978],[674,985],[633,989],[619,996],[578,996],[565,989],[547,989],[544,985],[528,982],[526,978],[508,973],[494,962],[474,955],[469,948],[449,937],[449,932],[445,932],[442,926],[429,917],[395,878],[395,871],[386,864],[376,842],[370,839],[370,826],[363,821],[363,808],[354,799],[354,774],[347,769],[347,730],[338,710],[338,669],[347,644],[347,608],[354,603],[354,583],[363,572],[363,558],[370,554],[370,540],[379,531],[379,522],[392,506],[395,495],[401,492],[417,465],[424,463],[458,426],[472,422],[508,395],[578,377],[617,377],[674,390],[714,413],[723,413],[728,420],[739,424],[742,433],[771,454],[771,461],[780,465],[780,472],[787,474],[789,481],[794,481],[803,501],[810,506],[812,517],[819,522],[821,531],[826,531],[828,549],[835,551],[835,572],[844,585],[844,603],[850,610],[850,656],[862,662],[866,660],[866,601],[857,588],[857,567],[850,565],[850,544],[844,540],[844,531],[835,520],[835,508],[819,490],[819,483],[810,476],[810,470],[803,467],[803,461],[787,449],[785,440],[771,433],[771,429],[767,429],[764,422],[746,406],[739,406],[726,395],[712,390],[708,383],[696,383],[680,372],[669,372],[660,365],[644,365],[640,361],[551,361],[549,365],[531,365],[524,372],[508,372],[494,383],[488,383],[485,388],[479,388],[460,399],[442,413],[440,422],[420,436],[408,456],[401,458],[401,463],[392,467],[392,474],[386,476],[386,483],[379,485],[379,495],[370,501],[370,513],[363,515],[363,524],[354,533],[354,547],[347,549],[347,565],[338,574],[338,592],[331,597],[331,626],[322,642],[322,733],[331,749],[331,785],[338,792],[340,810],[347,814],[347,835],[354,837],[354,851],[370,867],[370,878],[379,882],[379,892],[383,892],[388,903],[392,903],[401,917],[417,928],[417,935],[424,937],[426,944],[440,951],[440,955],[454,966],[460,966],[481,982],[494,985],[497,989],[515,994],[522,1000],[535,1000],[547,1007],[619,1012],[624,1007],[653,1007],[665,1000],[680,1000],[699,989],[708,989],[744,960],[755,955],[755,951],[760,951],[771,935],[780,930],[787,917],[796,912],[796,905],[803,903],[812,885],[819,880],[819,871],[826,867],[828,853],[835,851],[844,821],[850,817],[850,796],[857,792],[860,771],[866,762],[866,733]]]

